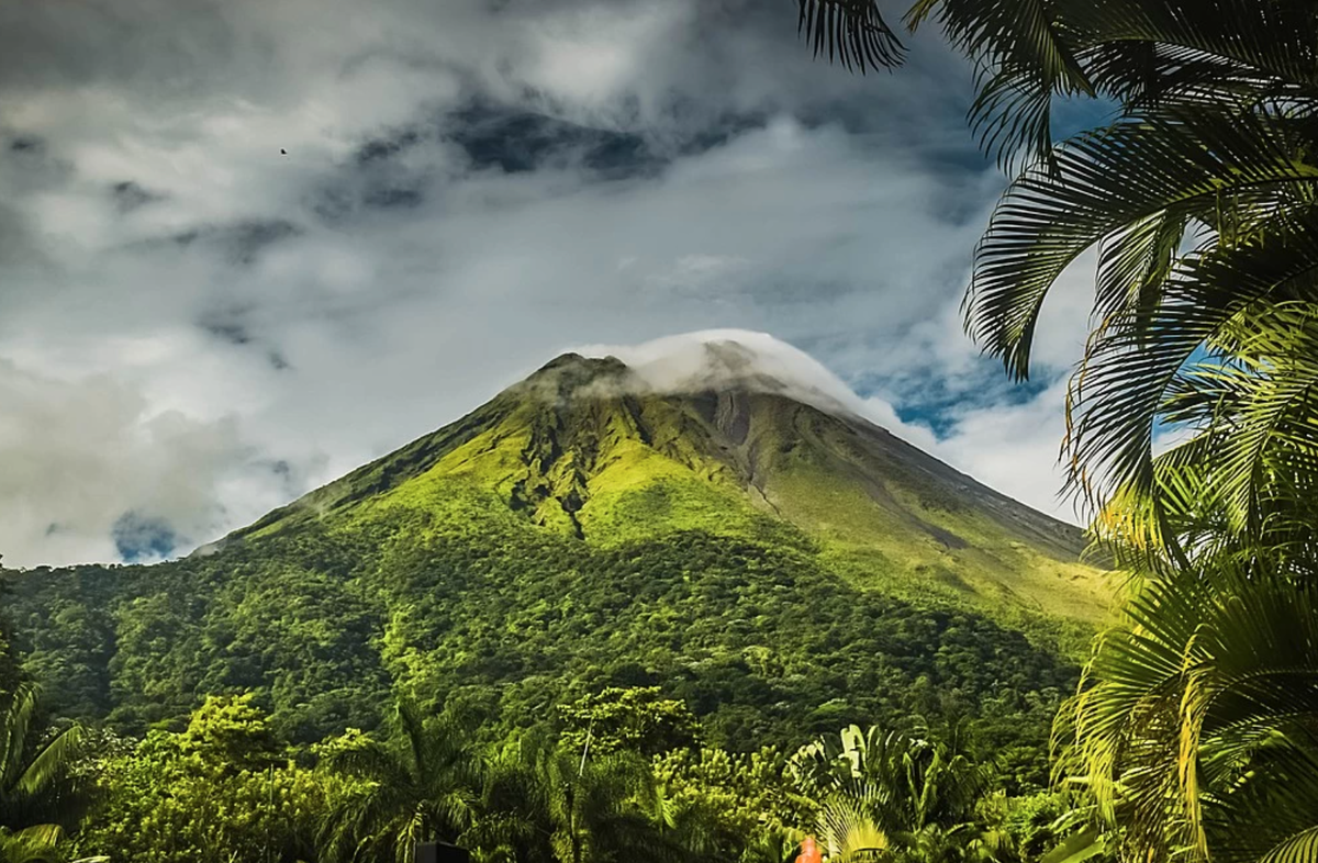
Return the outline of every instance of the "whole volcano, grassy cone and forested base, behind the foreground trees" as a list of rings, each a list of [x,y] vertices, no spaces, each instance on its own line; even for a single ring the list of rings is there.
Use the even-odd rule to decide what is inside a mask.
[[[654,682],[734,748],[921,713],[1041,758],[1103,607],[1079,532],[799,395],[568,354],[188,559],[18,573],[20,647],[129,730],[254,689],[315,739],[399,682],[531,725]]]

